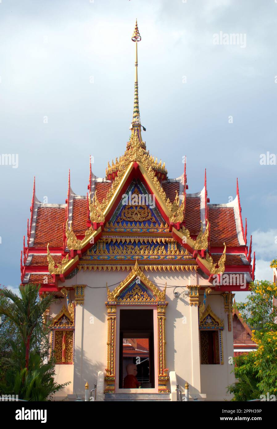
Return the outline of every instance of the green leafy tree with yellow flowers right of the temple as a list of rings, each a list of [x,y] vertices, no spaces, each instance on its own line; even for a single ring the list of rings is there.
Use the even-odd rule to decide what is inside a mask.
[[[235,401],[259,399],[260,395],[277,394],[277,285],[270,281],[250,284],[247,302],[237,303],[244,321],[251,326],[257,350],[235,358],[235,377],[229,386]],[[256,396],[256,398],[255,398]]]

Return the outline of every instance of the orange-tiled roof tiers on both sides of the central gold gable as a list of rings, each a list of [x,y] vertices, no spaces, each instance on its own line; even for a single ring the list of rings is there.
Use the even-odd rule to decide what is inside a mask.
[[[91,171],[91,164],[90,164]],[[177,179],[167,179],[161,183],[166,193],[166,198],[174,202],[176,191],[179,199],[184,198],[184,174]],[[90,198],[92,199],[96,190],[97,198],[101,204],[111,181],[99,179],[91,175],[89,189],[94,189]],[[226,243],[225,273],[242,273],[246,275],[247,282],[254,278],[254,269],[251,265],[251,241],[247,246],[247,237],[242,228],[241,210],[239,204],[239,193],[236,198],[227,204],[207,204],[205,208],[205,186],[199,193],[186,193],[186,206],[183,225],[190,231],[192,239],[196,240],[199,234],[201,221],[205,225],[205,217],[209,221],[210,232],[208,252],[213,262],[218,263],[223,254]],[[54,286],[54,281],[49,273],[47,259],[47,245],[55,264],[61,263],[69,249],[66,247],[65,225],[68,220],[72,222],[72,230],[77,239],[82,240],[90,222],[90,211],[87,202],[88,195],[76,195],[70,186],[68,198],[65,204],[45,204],[39,202],[33,187],[33,199],[30,211],[32,218],[27,231],[27,245],[22,252],[23,263],[21,266],[21,281],[23,283],[33,282]],[[204,227],[205,228],[205,227]],[[45,280],[47,279],[47,280]]]

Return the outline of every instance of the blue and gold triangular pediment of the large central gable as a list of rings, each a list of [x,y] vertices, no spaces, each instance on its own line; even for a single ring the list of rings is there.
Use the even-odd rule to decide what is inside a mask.
[[[156,206],[139,179],[133,179],[102,237],[80,259],[79,269],[132,269],[136,259],[146,270],[197,269],[195,259],[169,232]]]

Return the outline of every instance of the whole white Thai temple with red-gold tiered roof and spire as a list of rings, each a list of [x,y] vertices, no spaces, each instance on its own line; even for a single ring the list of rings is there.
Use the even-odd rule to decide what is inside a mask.
[[[186,163],[172,179],[149,154],[138,105],[140,40],[136,23],[126,150],[104,178],[90,162],[84,195],[73,192],[69,172],[64,204],[40,202],[33,184],[21,282],[57,297],[45,317],[56,381],[71,382],[60,398],[97,382],[102,401],[176,400],[177,383],[191,400],[229,400],[232,304],[255,269],[238,184],[232,202],[211,204],[206,172],[203,189],[189,193]]]

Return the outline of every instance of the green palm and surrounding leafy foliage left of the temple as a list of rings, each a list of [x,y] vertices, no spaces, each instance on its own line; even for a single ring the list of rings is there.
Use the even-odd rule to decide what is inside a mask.
[[[18,394],[27,401],[50,400],[54,393],[69,383],[54,381],[54,357],[48,360],[48,325],[45,310],[55,301],[48,295],[39,299],[40,286],[26,284],[19,289],[20,296],[2,289],[0,315],[15,326],[15,340],[8,339],[9,353],[1,359],[5,372],[0,377],[0,391]],[[45,357],[47,362],[45,363]]]

